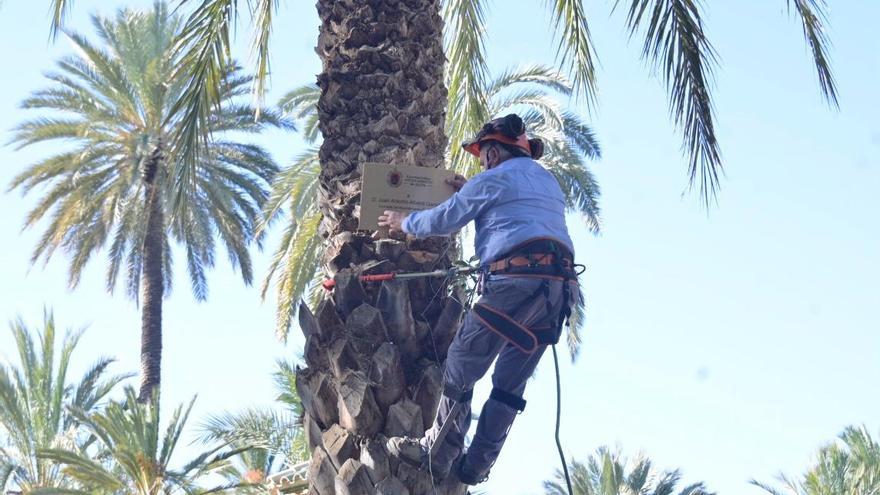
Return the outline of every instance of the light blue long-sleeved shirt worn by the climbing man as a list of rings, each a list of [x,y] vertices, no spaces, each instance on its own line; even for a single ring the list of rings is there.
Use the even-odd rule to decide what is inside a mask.
[[[559,182],[531,158],[512,158],[477,174],[445,202],[407,215],[402,227],[416,237],[446,236],[471,220],[481,263],[539,237],[556,239],[574,253]]]

